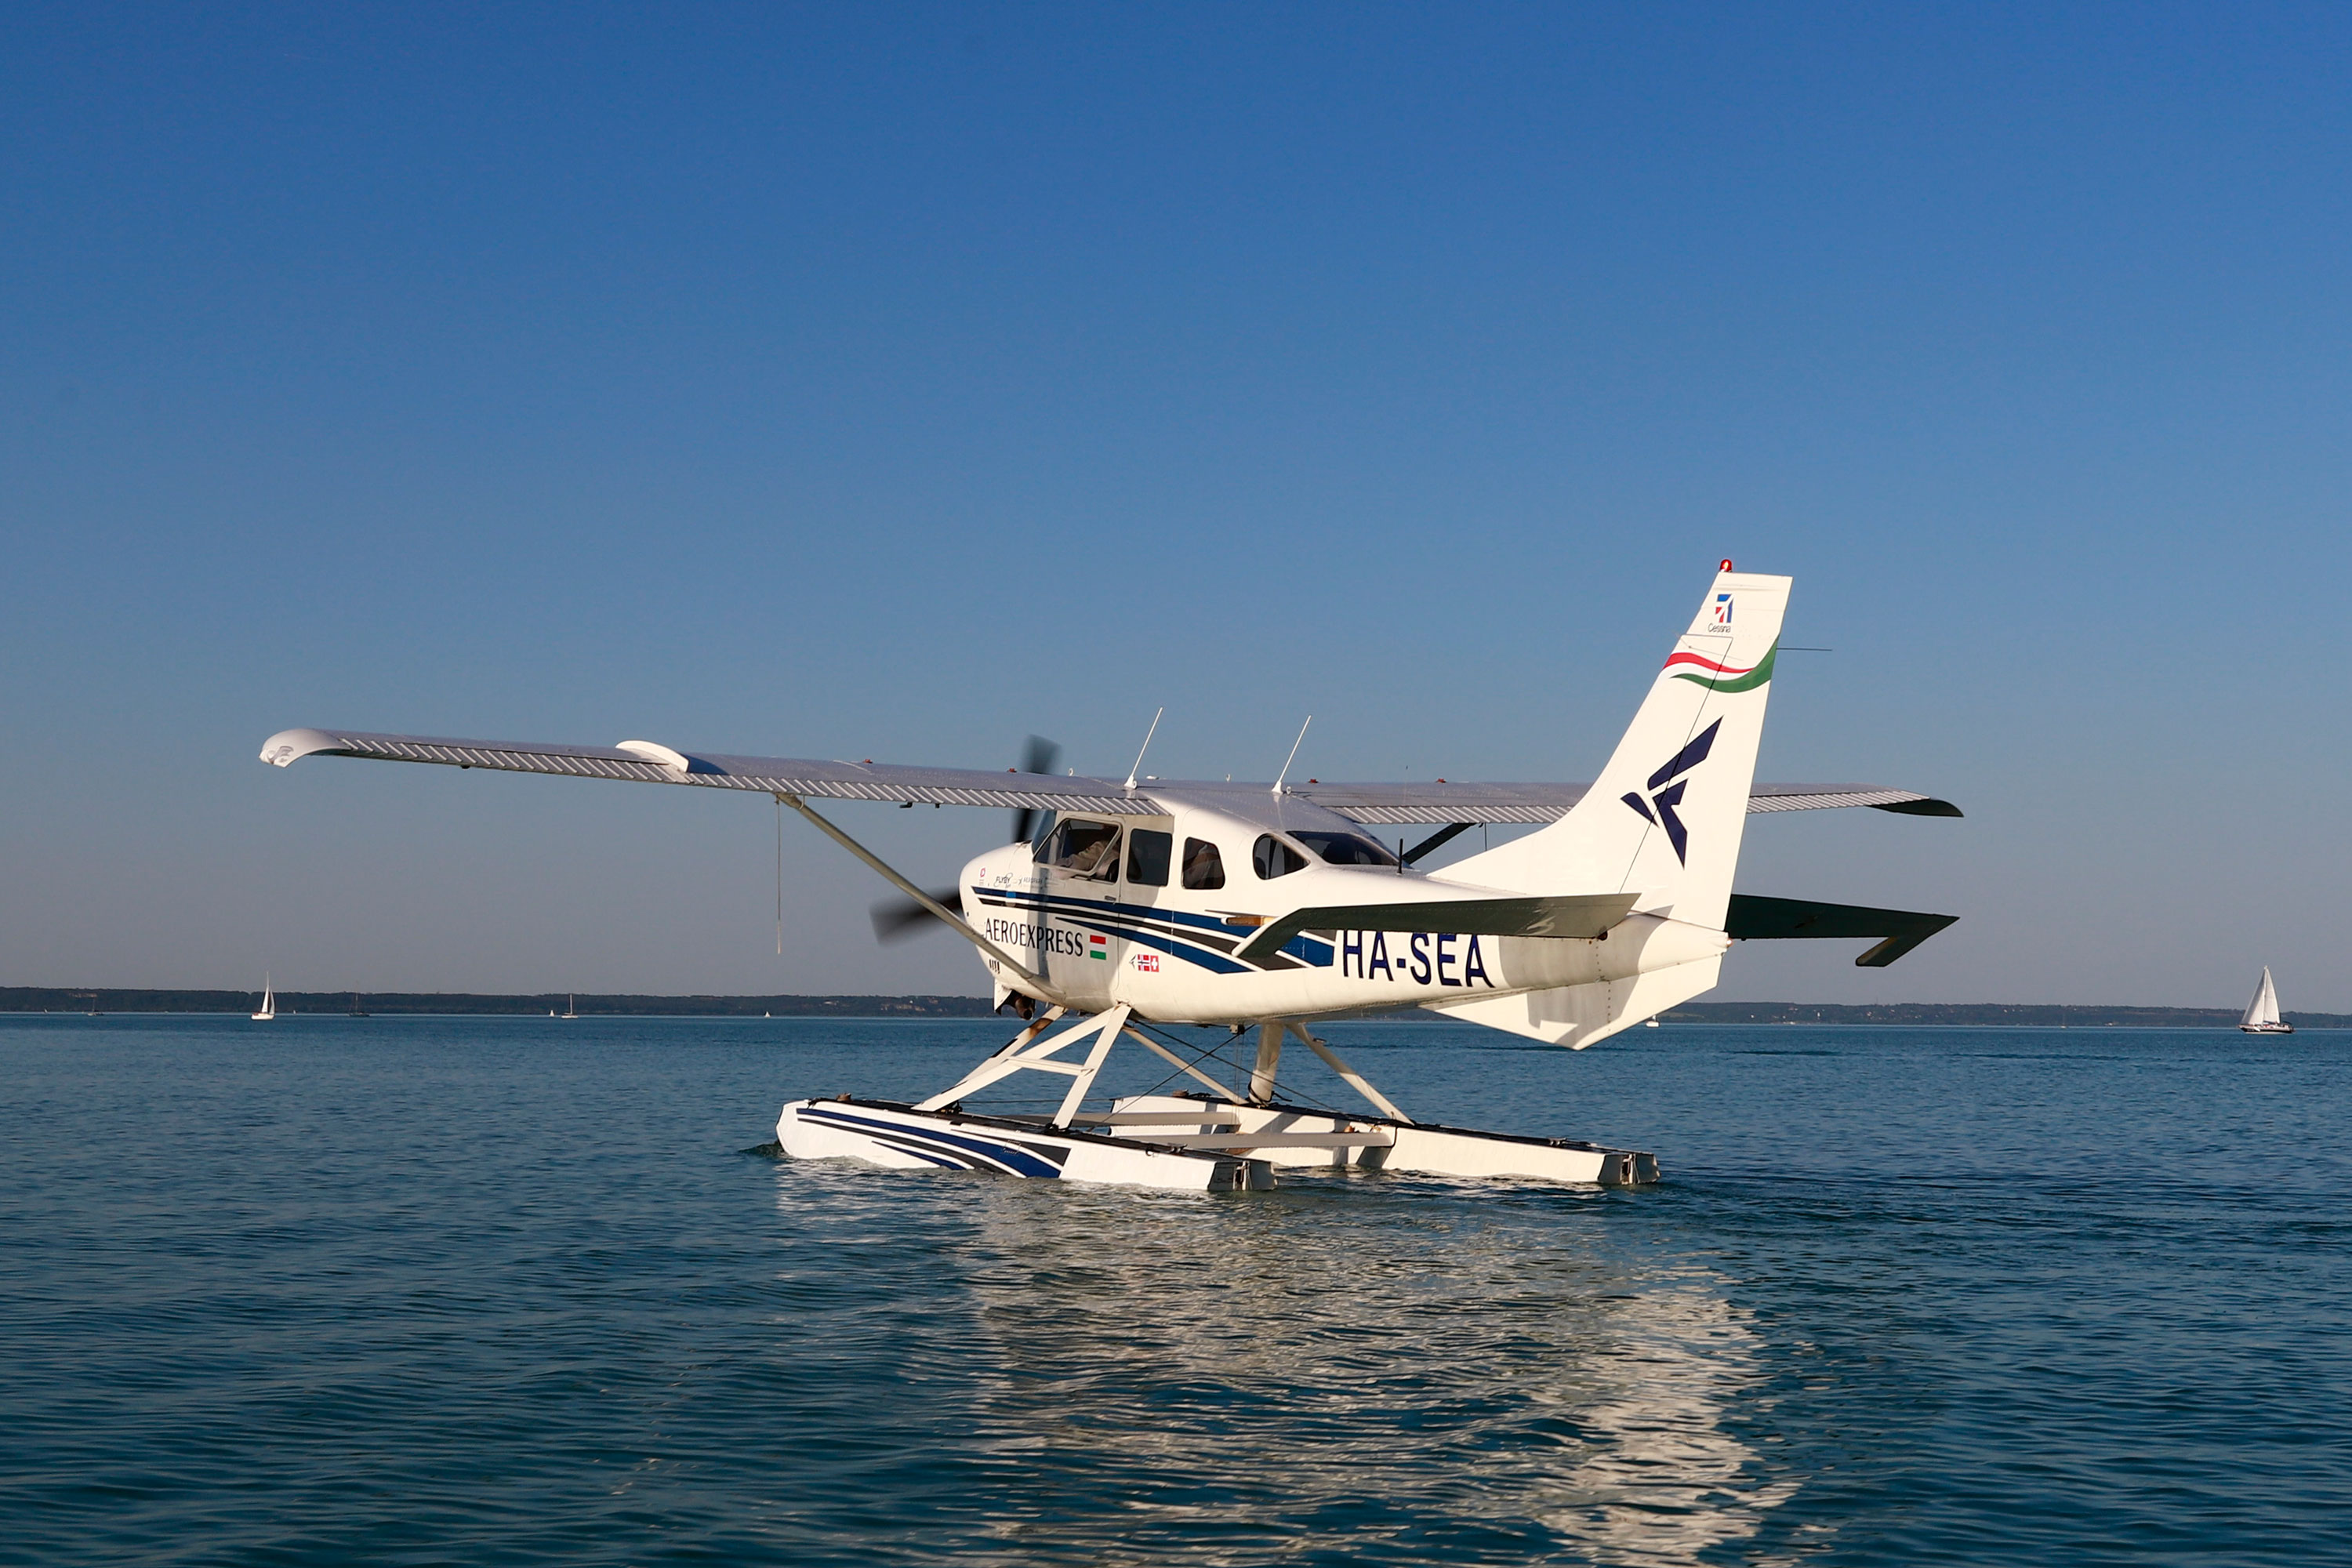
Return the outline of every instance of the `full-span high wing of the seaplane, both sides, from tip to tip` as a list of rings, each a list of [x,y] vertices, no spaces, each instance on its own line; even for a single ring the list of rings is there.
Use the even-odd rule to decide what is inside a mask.
[[[1112,778],[1016,773],[1011,769],[920,769],[894,762],[816,762],[809,757],[729,757],[677,752],[652,741],[619,745],[550,745],[541,741],[456,741],[449,736],[381,736],[353,729],[285,729],[261,745],[261,759],[287,766],[301,757],[376,757],[383,762],[437,762],[459,769],[508,773],[562,773],[569,778],[621,778],[630,783],[684,783],[717,790],[786,792],[807,799],[873,799],[927,806],[1014,806],[1033,811],[1098,811],[1103,816],[1152,816],[1160,806],[1150,788],[1209,795],[1268,785],[1225,780],[1148,780],[1134,795]],[[1317,783],[1289,792],[1357,823],[1552,823],[1585,797],[1581,783]],[[1959,816],[1959,806],[1858,783],[1759,783],[1748,795],[1750,811],[1820,811],[1830,806],[1877,806],[1912,816]]]

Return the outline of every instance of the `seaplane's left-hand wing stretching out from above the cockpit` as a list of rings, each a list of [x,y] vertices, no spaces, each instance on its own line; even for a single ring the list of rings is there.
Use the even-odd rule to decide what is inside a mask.
[[[539,741],[454,741],[447,736],[376,736],[339,729],[287,729],[261,745],[261,759],[287,766],[301,757],[379,757],[440,762],[508,773],[564,773],[630,783],[684,783],[717,790],[800,795],[809,799],[875,799],[931,806],[1028,806],[1040,811],[1101,811],[1148,816],[1150,799],[1129,797],[1108,778],[1051,773],[990,773],[985,769],[913,769],[889,762],[814,762],[807,757],[724,757],[677,752],[652,741],[621,745],[546,745]]]

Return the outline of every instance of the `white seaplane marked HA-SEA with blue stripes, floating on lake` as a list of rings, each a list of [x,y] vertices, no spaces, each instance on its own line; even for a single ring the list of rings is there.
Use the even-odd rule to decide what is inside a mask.
[[[1712,990],[1736,940],[1865,938],[1856,964],[1886,966],[1950,926],[1952,914],[1731,891],[1755,813],[1959,816],[1910,790],[1755,783],[1788,595],[1790,578],[1722,562],[1592,783],[1291,783],[1289,762],[1272,783],[1167,780],[1138,776],[1143,755],[1127,778],[1082,778],[1049,773],[1035,757],[1033,771],[993,773],[656,741],[334,729],[280,731],[261,759],[372,757],[771,795],[873,867],[913,919],[971,943],[997,1011],[1021,1027],[920,1103],[786,1103],[776,1145],[788,1157],[1195,1192],[1263,1190],[1277,1168],[1315,1166],[1644,1185],[1658,1180],[1644,1150],[1414,1119],[1315,1030],[1428,1009],[1581,1051]],[[924,891],[823,816],[818,799],[995,806],[1016,825],[1011,842],[964,865],[955,889]],[[1484,823],[1534,832],[1442,870],[1418,865]],[[1435,832],[1390,849],[1390,827]],[[877,917],[877,929],[887,924],[898,922]],[[1188,1048],[1171,1037],[1176,1025],[1221,1025],[1235,1060]],[[1367,1110],[1301,1103],[1315,1095],[1277,1077],[1291,1041]],[[1089,1105],[1120,1044],[1197,1088]],[[1058,1081],[1056,1110],[967,1105],[1014,1074]]]

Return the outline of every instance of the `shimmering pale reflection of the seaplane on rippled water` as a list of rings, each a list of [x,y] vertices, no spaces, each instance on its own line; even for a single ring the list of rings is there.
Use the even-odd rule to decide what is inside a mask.
[[[1378,1185],[1395,1201],[1343,1175],[1247,1204],[920,1182],[936,1206],[894,1220],[938,1241],[953,1331],[910,1375],[960,1385],[969,1441],[1028,1476],[993,1533],[1082,1549],[1025,1488],[1108,1488],[1101,1547],[1150,1561],[1409,1533],[1675,1568],[1797,1493],[1733,1429],[1766,1345],[1722,1274],[1618,1255],[1599,1190]],[[781,1164],[795,1225],[811,1199],[863,1208],[837,1166]]]

